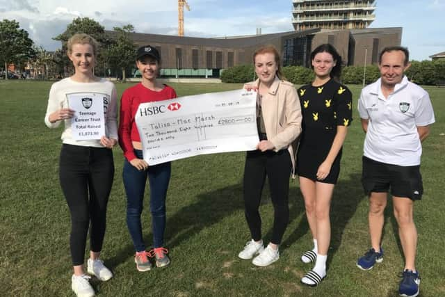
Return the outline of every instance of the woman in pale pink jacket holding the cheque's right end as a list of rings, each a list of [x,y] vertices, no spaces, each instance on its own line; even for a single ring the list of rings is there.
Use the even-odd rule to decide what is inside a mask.
[[[296,89],[284,81],[280,54],[272,45],[261,47],[253,55],[258,79],[245,88],[257,90],[257,150],[247,152],[244,169],[244,204],[252,239],[239,253],[256,266],[268,266],[280,258],[278,247],[289,221],[289,175],[294,158],[291,143],[301,131],[301,108]],[[272,239],[264,248],[261,237],[259,203],[268,177],[274,208]]]

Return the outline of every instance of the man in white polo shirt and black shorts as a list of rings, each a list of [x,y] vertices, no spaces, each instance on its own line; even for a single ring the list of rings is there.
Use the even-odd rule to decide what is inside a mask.
[[[421,142],[435,122],[426,90],[408,81],[410,67],[405,47],[387,47],[379,57],[380,79],[362,90],[358,110],[366,133],[362,184],[369,195],[369,232],[371,249],[357,260],[363,270],[383,260],[380,244],[383,212],[388,192],[392,195],[394,216],[405,255],[401,296],[419,294],[420,277],[416,271],[417,231],[413,220],[414,200],[423,193],[420,173]]]

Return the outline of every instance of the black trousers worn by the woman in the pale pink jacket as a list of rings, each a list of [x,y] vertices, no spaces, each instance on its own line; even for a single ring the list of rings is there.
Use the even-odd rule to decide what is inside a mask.
[[[254,241],[261,239],[259,203],[267,175],[274,209],[273,232],[270,242],[281,243],[289,222],[289,176],[291,167],[291,156],[288,150],[280,150],[279,152],[256,150],[247,153],[243,182],[245,219],[248,221],[250,234]]]

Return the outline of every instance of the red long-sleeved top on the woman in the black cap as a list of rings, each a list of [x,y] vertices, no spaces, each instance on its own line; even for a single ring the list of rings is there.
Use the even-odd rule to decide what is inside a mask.
[[[175,90],[167,85],[164,85],[164,88],[159,92],[145,88],[142,83],[138,83],[136,86],[124,90],[120,99],[118,134],[119,145],[124,151],[124,156],[128,161],[136,158],[136,154],[134,154],[133,151],[133,144],[131,142],[140,141],[138,128],[136,127],[136,121],[134,120],[139,104],[173,99],[176,97]]]

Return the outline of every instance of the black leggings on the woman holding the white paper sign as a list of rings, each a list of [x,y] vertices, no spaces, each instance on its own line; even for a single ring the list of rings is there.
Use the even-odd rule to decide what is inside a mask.
[[[59,177],[71,212],[72,264],[82,265],[90,220],[90,250],[102,250],[106,204],[114,177],[113,152],[102,147],[63,144]]]

